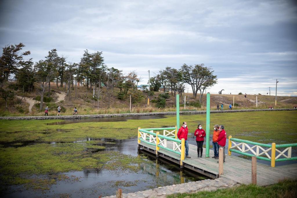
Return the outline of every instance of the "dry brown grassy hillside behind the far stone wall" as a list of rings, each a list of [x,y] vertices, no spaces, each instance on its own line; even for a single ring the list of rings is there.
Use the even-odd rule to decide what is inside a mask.
[[[13,87],[13,83],[10,83]],[[64,87],[56,88],[55,83],[51,83],[51,95],[47,98],[48,101],[44,102],[42,110],[39,110],[40,103],[40,89],[38,85],[32,92],[23,93],[21,90],[15,90],[16,97],[8,101],[8,110],[5,108],[4,99],[0,99],[0,116],[22,116],[22,115],[44,115],[43,111],[46,106],[50,108],[49,115],[56,115],[57,107],[62,106],[62,115],[71,115],[74,107],[78,108],[80,115],[86,114],[108,114],[108,113],[129,113],[129,94],[124,100],[118,99],[117,95],[119,89],[114,89],[112,96],[108,100],[106,96],[106,89],[102,88],[100,95],[99,106],[96,98],[92,97],[93,90],[87,90],[86,87],[77,87],[77,94],[75,97],[75,88],[72,88],[71,98],[67,96],[67,89]],[[154,92],[152,99],[156,99],[162,92]],[[156,111],[175,111],[174,96],[166,99],[165,109],[158,109],[155,103],[150,103],[149,107],[143,98],[140,102],[132,104],[132,112],[156,112]],[[193,99],[192,93],[186,93],[186,110],[205,110],[206,94],[203,94],[201,107],[189,106],[189,103],[199,101],[200,95]],[[48,90],[45,93],[48,96]],[[258,107],[256,107],[256,95],[228,95],[228,94],[211,94],[211,109],[217,109],[217,104],[224,105],[224,110],[228,109],[229,104],[233,106],[233,96],[235,98],[235,107],[233,109],[255,109],[255,108],[293,108],[297,106],[297,98],[289,96],[278,96],[277,106],[274,106],[275,96],[257,95]],[[22,99],[23,98],[23,99]],[[50,100],[50,101],[49,101]],[[45,100],[44,100],[45,101]],[[110,101],[110,108],[108,108],[108,101]],[[154,100],[153,100],[154,101]],[[181,99],[180,99],[181,102]],[[188,103],[189,102],[189,103]],[[184,104],[180,104],[181,110],[184,110]]]

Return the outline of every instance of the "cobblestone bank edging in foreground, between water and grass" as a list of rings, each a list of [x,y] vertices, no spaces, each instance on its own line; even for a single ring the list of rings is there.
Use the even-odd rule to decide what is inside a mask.
[[[123,198],[131,198],[131,197],[143,197],[143,198],[163,198],[169,194],[176,194],[176,193],[195,193],[198,191],[215,191],[217,189],[225,189],[230,188],[233,186],[238,186],[239,184],[236,181],[227,179],[227,178],[218,178],[215,180],[201,180],[189,183],[181,183],[172,186],[164,186],[159,187],[152,190],[146,191],[138,191],[134,193],[123,194]],[[105,198],[114,198],[116,195],[105,197]]]

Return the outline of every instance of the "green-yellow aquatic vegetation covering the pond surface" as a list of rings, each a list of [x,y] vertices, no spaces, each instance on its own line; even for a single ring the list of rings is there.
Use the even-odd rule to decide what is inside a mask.
[[[205,129],[206,115],[181,115],[180,121],[187,121],[189,133],[193,133],[198,123]],[[133,164],[143,162],[145,157],[108,151],[94,153],[92,151],[104,148],[99,146],[102,143],[99,139],[137,137],[138,127],[175,126],[176,117],[47,125],[53,122],[57,120],[0,120],[2,185],[25,183],[34,186],[40,181],[28,179],[28,175],[59,174],[71,170],[118,168],[137,171]],[[211,114],[211,126],[214,124],[224,124],[228,135],[240,139],[277,144],[297,142],[294,127],[297,124],[297,111]],[[94,140],[75,142],[85,140],[86,137]],[[23,146],[26,142],[34,144]],[[49,144],[50,142],[56,143]],[[54,181],[51,178],[44,181],[46,185],[52,182]]]

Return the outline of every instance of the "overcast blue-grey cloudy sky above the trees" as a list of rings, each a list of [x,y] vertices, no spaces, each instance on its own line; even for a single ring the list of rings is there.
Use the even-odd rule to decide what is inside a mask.
[[[277,79],[277,95],[297,95],[296,1],[1,0],[0,46],[20,42],[33,61],[102,51],[140,84],[148,70],[203,63],[218,78],[207,92],[275,95]]]

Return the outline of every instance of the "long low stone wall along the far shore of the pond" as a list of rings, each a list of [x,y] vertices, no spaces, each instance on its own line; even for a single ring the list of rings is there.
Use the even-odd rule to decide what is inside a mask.
[[[288,111],[297,109],[243,109],[243,110],[212,110],[210,113],[234,113],[247,111]],[[199,114],[206,111],[180,111],[180,114]],[[174,115],[175,111],[152,112],[152,113],[121,113],[121,114],[98,114],[98,115],[61,115],[61,116],[20,116],[20,117],[0,117],[0,120],[48,120],[48,119],[80,119],[80,118],[106,118],[106,117],[125,117],[141,115]]]

